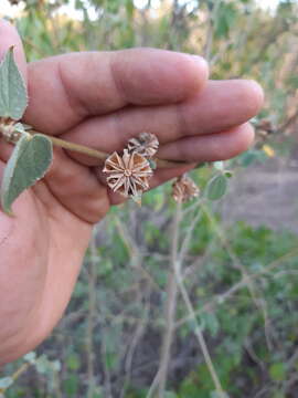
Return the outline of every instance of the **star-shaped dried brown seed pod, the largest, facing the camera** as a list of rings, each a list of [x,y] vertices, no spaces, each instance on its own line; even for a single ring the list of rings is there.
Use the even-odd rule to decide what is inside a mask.
[[[149,189],[149,179],[153,171],[149,161],[137,153],[130,154],[128,149],[119,156],[116,151],[105,163],[103,170],[107,174],[107,184],[116,192],[126,198],[140,197]]]

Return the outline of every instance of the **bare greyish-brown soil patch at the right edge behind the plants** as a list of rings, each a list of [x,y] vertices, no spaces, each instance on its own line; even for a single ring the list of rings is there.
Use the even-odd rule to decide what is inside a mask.
[[[268,159],[236,172],[222,203],[224,222],[249,224],[298,233],[298,156]]]

